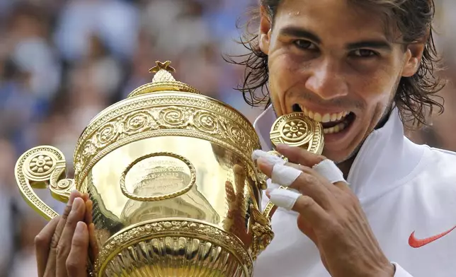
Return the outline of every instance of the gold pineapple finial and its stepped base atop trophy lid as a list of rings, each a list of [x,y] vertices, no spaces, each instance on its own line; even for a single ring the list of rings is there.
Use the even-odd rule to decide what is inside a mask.
[[[149,73],[155,73],[152,83],[147,83],[133,90],[128,98],[156,92],[183,92],[201,94],[196,88],[186,83],[176,81],[171,73],[176,72],[170,64],[171,61],[155,61],[155,66],[149,69]]]

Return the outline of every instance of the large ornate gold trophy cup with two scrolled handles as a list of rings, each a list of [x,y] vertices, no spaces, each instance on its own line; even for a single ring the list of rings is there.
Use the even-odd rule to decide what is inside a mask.
[[[157,61],[152,83],[89,122],[76,144],[74,179],[62,152],[39,146],[18,159],[18,188],[48,220],[58,214],[33,189],[63,202],[72,189],[89,193],[91,276],[250,277],[273,239],[274,207],[262,212],[266,182],[251,160],[258,136],[234,108],[176,81],[170,64]],[[271,141],[321,153],[321,124],[287,114]]]

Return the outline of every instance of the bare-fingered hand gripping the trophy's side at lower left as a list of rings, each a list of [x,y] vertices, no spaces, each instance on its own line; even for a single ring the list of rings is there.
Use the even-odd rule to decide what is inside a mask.
[[[63,215],[53,218],[35,237],[38,277],[87,276],[89,243],[95,247],[91,209],[89,195],[74,191]]]

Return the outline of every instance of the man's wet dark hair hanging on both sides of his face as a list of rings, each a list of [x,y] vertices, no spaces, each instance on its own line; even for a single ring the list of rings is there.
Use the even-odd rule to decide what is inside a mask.
[[[244,25],[245,33],[240,43],[249,49],[249,53],[231,56],[226,59],[232,64],[245,67],[244,81],[236,88],[244,95],[244,100],[251,106],[257,107],[270,102],[268,89],[268,55],[264,54],[258,45],[258,29],[252,32],[251,26],[258,23],[260,11],[266,12],[271,23],[283,0],[261,0],[261,6],[252,11]],[[401,34],[401,44],[404,46],[426,39],[423,57],[418,71],[411,77],[402,77],[399,81],[394,103],[404,122],[411,126],[426,124],[428,115],[436,109],[443,112],[443,98],[438,93],[445,81],[436,76],[440,69],[440,57],[433,40],[432,22],[435,13],[433,0],[348,0],[359,8],[382,12],[386,26],[397,26]],[[380,14],[380,13],[379,13]],[[388,28],[388,27],[387,27]],[[441,100],[439,102],[438,100]]]

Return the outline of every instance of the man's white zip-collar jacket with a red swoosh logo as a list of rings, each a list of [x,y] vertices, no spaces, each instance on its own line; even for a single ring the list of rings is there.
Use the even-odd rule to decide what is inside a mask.
[[[265,151],[271,149],[274,120],[268,108],[253,124]],[[394,110],[366,139],[347,181],[384,254],[396,266],[396,277],[456,277],[456,153],[409,141]],[[263,194],[263,207],[267,201]],[[258,257],[255,277],[330,276],[296,218],[297,213],[283,208],[275,212],[275,237]],[[434,236],[439,238],[411,247]]]

